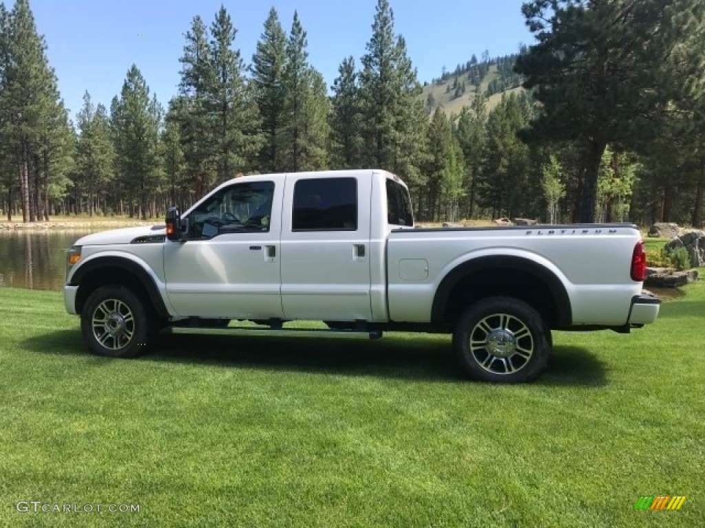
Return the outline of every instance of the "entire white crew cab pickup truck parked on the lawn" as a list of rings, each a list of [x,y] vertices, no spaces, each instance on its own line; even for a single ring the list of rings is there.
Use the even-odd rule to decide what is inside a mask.
[[[462,372],[511,383],[544,370],[551,330],[656,320],[645,266],[634,225],[419,229],[390,172],[300,172],[239,177],[163,225],[82,237],[64,298],[102,356],[137,356],[166,328],[446,332]]]

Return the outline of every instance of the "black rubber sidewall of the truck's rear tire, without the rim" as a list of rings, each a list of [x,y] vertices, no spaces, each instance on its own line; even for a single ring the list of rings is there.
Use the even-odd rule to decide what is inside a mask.
[[[511,374],[489,372],[472,355],[470,333],[477,323],[489,315],[505,313],[520,320],[529,329],[534,351],[527,365]],[[551,356],[551,331],[541,315],[524,301],[511,297],[491,297],[478,301],[462,313],[453,333],[453,348],[465,375],[493,383],[522,383],[536,379]]]

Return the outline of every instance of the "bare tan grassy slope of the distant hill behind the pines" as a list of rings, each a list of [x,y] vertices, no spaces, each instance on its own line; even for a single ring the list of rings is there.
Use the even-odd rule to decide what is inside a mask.
[[[456,73],[445,74],[439,79],[434,79],[432,82],[424,86],[423,100],[424,104],[427,104],[429,100],[429,94],[433,97],[434,101],[429,108],[430,112],[433,113],[436,108],[441,106],[446,115],[450,117],[451,115],[459,115],[460,111],[464,106],[469,106],[470,102],[479,92],[480,94],[485,94],[490,87],[491,83],[495,83],[495,89],[499,85],[499,90],[497,93],[491,95],[488,99],[487,110],[491,111],[498,103],[501,101],[503,94],[522,92],[521,87],[517,87],[517,78],[511,76],[508,73],[507,63],[512,63],[515,61],[515,56],[505,56],[501,58],[494,59],[490,61],[489,68],[482,80],[479,83],[479,89],[475,84],[470,82],[470,72],[468,70],[462,70]],[[500,71],[500,64],[503,64],[503,72]],[[477,78],[477,77],[476,77]],[[456,96],[456,90],[454,88],[456,79],[458,84],[465,82],[465,93]],[[504,84],[505,86],[502,86]]]

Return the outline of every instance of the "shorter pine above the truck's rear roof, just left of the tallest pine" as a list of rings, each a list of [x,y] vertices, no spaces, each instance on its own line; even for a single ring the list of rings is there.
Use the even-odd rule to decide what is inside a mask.
[[[360,86],[355,72],[355,58],[345,58],[333,82],[331,111],[331,156],[339,168],[361,166],[362,137],[360,136]]]

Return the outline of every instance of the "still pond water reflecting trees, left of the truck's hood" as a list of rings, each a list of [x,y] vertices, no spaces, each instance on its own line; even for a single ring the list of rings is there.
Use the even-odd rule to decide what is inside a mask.
[[[66,250],[93,231],[0,231],[0,287],[63,287]]]

